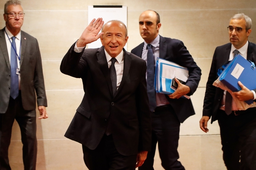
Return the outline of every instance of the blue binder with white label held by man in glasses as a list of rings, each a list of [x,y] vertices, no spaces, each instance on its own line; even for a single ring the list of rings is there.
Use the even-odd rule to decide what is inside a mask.
[[[226,85],[231,91],[240,91],[238,84],[240,81],[249,90],[256,89],[256,69],[255,64],[246,60],[241,55],[236,55],[234,59],[226,66],[219,75],[219,80]],[[245,101],[252,104],[253,100]]]

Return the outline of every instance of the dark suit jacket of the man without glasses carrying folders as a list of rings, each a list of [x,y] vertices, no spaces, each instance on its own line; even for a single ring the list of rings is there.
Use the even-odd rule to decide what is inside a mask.
[[[131,53],[141,57],[143,46],[144,43],[141,43],[132,49]],[[160,36],[159,57],[171,62],[175,62],[180,66],[189,69],[189,79],[187,80],[186,85],[190,88],[190,93],[188,95],[192,95],[197,89],[200,81],[201,69],[196,65],[182,41]],[[171,106],[174,108],[180,123],[183,123],[189,116],[195,115],[195,111],[190,99],[170,99],[167,95],[165,96],[170,102]]]

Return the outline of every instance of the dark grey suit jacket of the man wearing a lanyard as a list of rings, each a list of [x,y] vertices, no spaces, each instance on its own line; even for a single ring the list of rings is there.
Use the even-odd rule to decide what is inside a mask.
[[[0,30],[0,113],[5,113],[9,104],[11,70],[4,28]],[[20,88],[25,110],[35,110],[37,105],[47,106],[43,80],[41,55],[37,39],[21,31]],[[36,94],[35,94],[36,91]]]

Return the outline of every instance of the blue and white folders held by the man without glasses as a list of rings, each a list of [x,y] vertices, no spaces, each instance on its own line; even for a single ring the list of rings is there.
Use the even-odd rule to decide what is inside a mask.
[[[174,78],[185,84],[189,77],[189,70],[174,62],[157,58],[154,87],[157,93],[172,94],[177,89]],[[185,95],[185,98],[190,98]]]

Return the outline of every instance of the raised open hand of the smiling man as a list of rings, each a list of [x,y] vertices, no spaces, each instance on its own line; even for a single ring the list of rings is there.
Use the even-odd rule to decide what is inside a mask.
[[[76,43],[77,47],[85,47],[87,44],[98,40],[104,34],[103,32],[99,34],[103,24],[104,21],[102,21],[102,18],[93,19],[89,26],[85,28],[84,32],[82,32]]]

